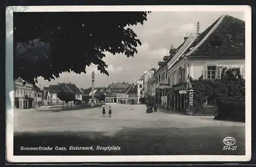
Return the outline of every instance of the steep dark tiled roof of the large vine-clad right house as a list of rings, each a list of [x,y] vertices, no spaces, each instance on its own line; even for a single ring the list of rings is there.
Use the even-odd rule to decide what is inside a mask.
[[[212,23],[191,45],[189,56],[245,57],[245,22],[223,15]],[[191,48],[190,47],[190,48]]]

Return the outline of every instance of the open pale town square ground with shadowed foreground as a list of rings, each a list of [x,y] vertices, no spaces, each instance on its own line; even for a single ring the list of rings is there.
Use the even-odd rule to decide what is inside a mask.
[[[47,111],[47,107],[14,110],[14,153],[17,155],[243,155],[244,123],[184,116],[178,112],[146,114],[144,105],[109,103],[113,117],[101,108]],[[237,140],[236,151],[223,150],[223,138]],[[30,138],[30,140],[27,140]],[[121,147],[101,151],[96,146]],[[95,150],[23,151],[20,147],[90,147]]]

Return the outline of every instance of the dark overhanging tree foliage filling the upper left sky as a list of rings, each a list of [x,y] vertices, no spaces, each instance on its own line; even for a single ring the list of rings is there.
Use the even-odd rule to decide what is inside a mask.
[[[133,57],[141,41],[130,26],[143,24],[148,13],[14,13],[14,78],[50,81],[62,72],[86,73],[92,64],[109,75],[105,52]]]

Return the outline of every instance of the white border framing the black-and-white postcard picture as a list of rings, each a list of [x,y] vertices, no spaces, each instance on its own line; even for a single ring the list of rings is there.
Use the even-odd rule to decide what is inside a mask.
[[[13,12],[71,11],[236,11],[245,13],[245,155],[14,156],[13,155]],[[10,6],[6,8],[6,156],[9,162],[204,162],[251,159],[251,8],[250,6]]]

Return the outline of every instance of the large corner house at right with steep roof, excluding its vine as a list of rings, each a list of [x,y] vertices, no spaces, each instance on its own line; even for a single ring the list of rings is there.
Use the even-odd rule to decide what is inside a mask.
[[[245,77],[245,23],[223,15],[203,33],[191,34],[175,57],[168,62],[170,91],[168,109],[186,112],[193,105],[193,87],[189,77],[221,79],[224,67],[240,68]],[[212,106],[215,99],[206,99]]]

